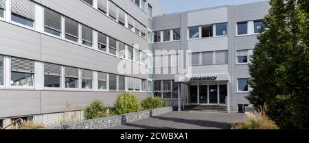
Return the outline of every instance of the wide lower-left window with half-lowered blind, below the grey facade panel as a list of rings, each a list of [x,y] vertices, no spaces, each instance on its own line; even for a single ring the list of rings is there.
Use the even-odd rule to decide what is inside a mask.
[[[34,86],[34,61],[11,57],[11,86]]]

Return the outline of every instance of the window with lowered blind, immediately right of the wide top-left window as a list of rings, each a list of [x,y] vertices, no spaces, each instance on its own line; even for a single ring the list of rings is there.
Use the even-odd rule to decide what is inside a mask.
[[[61,35],[61,14],[44,8],[44,31],[55,36]]]

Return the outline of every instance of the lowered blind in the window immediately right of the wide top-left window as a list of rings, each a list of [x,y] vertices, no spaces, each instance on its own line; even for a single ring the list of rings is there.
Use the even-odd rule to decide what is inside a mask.
[[[61,14],[49,8],[44,8],[44,24],[45,27],[61,31]]]

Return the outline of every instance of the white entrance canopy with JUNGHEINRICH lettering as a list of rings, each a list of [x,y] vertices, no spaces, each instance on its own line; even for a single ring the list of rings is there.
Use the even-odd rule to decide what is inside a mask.
[[[175,82],[192,83],[205,81],[230,81],[229,73],[175,75]]]

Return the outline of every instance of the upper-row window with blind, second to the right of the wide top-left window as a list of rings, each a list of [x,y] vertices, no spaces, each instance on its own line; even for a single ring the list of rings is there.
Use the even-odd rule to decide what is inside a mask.
[[[78,42],[78,22],[71,18],[65,18],[65,38]]]

